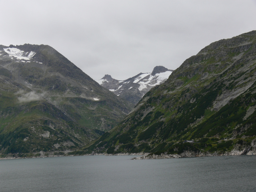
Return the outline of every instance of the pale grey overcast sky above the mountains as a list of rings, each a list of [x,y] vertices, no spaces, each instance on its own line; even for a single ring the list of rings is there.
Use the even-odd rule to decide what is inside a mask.
[[[0,0],[0,44],[48,44],[94,80],[178,68],[256,30],[256,0]]]

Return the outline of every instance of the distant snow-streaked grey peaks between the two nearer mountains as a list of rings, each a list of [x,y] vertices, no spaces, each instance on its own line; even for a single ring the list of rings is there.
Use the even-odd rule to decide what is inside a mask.
[[[152,73],[140,73],[123,81],[105,75],[96,82],[135,106],[151,88],[165,82],[172,71],[163,66],[156,66]]]

